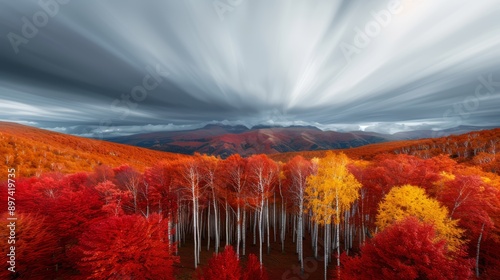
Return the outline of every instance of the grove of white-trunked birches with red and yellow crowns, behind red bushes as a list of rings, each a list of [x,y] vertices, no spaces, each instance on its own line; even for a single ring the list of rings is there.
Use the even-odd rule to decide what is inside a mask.
[[[483,244],[491,243],[484,240],[494,232],[498,188],[484,176],[454,175],[456,169],[456,163],[445,157],[423,160],[408,155],[351,161],[342,153],[327,152],[323,158],[296,156],[285,163],[265,155],[232,155],[224,160],[195,155],[158,164],[144,174],[126,166],[116,168],[96,190],[104,198],[107,213],[115,216],[163,213],[170,244],[182,247],[187,239],[192,240],[195,267],[200,264],[202,242],[218,254],[225,240],[226,246],[234,246],[239,259],[253,238],[261,266],[264,246],[269,253],[281,245],[287,254],[292,251],[287,252],[290,247],[285,244],[293,242],[305,277],[304,239],[310,238],[307,246],[311,244],[314,256],[323,255],[325,277],[333,258],[340,277],[341,251],[359,252],[359,247],[350,250],[353,240],[359,240],[362,247],[393,221],[412,216],[427,222],[431,219],[426,217],[434,217],[436,234],[446,237],[448,248],[465,244],[458,233],[467,230],[475,242],[469,251],[474,252],[476,275],[480,275],[482,254],[484,258],[491,254]],[[408,183],[422,188],[398,186]],[[54,196],[53,189],[45,192]],[[426,190],[443,206],[431,203]],[[460,228],[450,220],[458,217]],[[442,227],[441,221],[453,226]]]

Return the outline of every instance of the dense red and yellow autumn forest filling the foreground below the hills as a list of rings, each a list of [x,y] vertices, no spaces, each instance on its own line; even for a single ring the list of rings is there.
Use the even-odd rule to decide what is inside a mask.
[[[21,176],[22,257],[0,277],[499,279],[500,177],[468,158],[196,154]]]

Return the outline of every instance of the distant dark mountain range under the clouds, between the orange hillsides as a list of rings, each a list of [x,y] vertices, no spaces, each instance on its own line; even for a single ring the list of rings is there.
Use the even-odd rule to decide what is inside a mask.
[[[395,140],[411,140],[462,134],[486,127],[461,126],[439,132],[419,130],[382,134],[376,132],[323,131],[313,126],[229,126],[209,124],[187,131],[164,131],[107,138],[115,143],[182,154],[211,154],[223,158],[232,154],[276,154],[296,151],[348,149]]]

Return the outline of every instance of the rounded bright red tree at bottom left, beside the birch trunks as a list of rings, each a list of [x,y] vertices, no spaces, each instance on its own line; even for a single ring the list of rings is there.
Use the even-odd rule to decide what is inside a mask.
[[[159,215],[110,217],[85,232],[77,255],[87,279],[174,279],[167,220]]]

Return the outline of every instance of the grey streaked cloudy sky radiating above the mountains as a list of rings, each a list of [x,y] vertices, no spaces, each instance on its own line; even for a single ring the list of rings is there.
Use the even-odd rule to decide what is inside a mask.
[[[0,0],[0,120],[500,126],[498,0]]]

